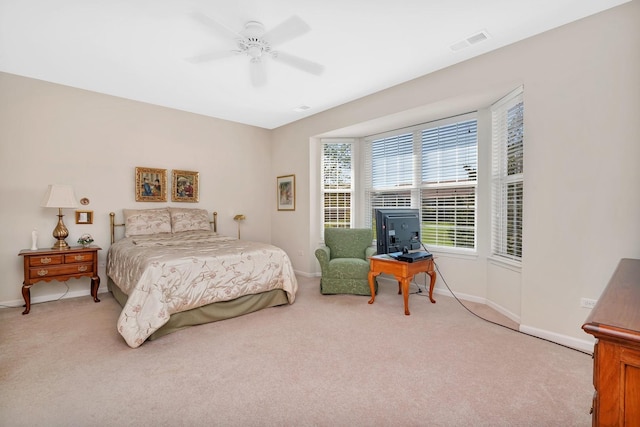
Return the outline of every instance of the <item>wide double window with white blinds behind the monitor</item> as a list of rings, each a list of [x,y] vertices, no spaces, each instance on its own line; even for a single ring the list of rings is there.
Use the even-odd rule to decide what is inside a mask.
[[[371,137],[367,142],[371,223],[376,208],[420,208],[425,244],[475,248],[475,114]]]

